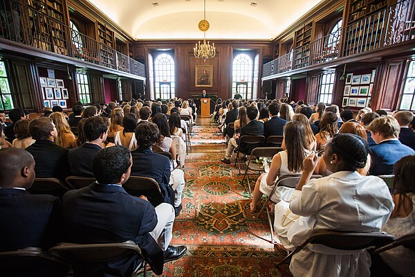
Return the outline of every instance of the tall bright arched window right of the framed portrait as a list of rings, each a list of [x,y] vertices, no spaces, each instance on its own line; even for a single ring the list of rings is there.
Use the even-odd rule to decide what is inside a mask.
[[[252,58],[247,54],[234,57],[232,63],[232,98],[236,91],[244,99],[252,99],[252,78],[254,65]]]

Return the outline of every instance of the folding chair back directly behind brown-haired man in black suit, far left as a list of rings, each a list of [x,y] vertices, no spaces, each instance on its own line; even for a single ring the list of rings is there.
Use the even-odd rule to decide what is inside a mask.
[[[68,190],[71,190],[63,181],[56,178],[35,178],[33,185],[28,192],[33,195],[53,195],[62,197]]]

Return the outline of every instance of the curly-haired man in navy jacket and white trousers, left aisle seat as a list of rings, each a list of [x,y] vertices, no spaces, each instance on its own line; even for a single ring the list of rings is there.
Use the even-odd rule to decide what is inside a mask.
[[[178,216],[182,210],[181,197],[185,188],[185,174],[180,169],[170,172],[169,158],[153,153],[151,147],[159,137],[160,132],[156,124],[143,122],[137,126],[138,148],[131,152],[131,175],[154,178],[160,186],[163,202],[174,206],[174,213]]]

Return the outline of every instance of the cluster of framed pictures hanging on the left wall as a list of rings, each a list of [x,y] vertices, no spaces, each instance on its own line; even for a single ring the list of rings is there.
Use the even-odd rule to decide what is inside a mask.
[[[40,77],[40,86],[42,87],[44,107],[68,107],[66,100],[69,99],[69,93],[65,88],[64,80]]]

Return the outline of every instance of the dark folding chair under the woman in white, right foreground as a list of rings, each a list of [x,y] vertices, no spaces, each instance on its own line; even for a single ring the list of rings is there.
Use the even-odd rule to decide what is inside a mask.
[[[340,232],[333,230],[317,230],[311,233],[308,239],[297,249],[288,254],[284,259],[275,264],[276,267],[282,265],[286,260],[291,259],[295,253],[303,249],[307,244],[322,244],[332,249],[354,251],[367,249],[369,247],[382,247],[394,242],[396,238],[385,232]],[[324,255],[324,254],[323,254]]]

